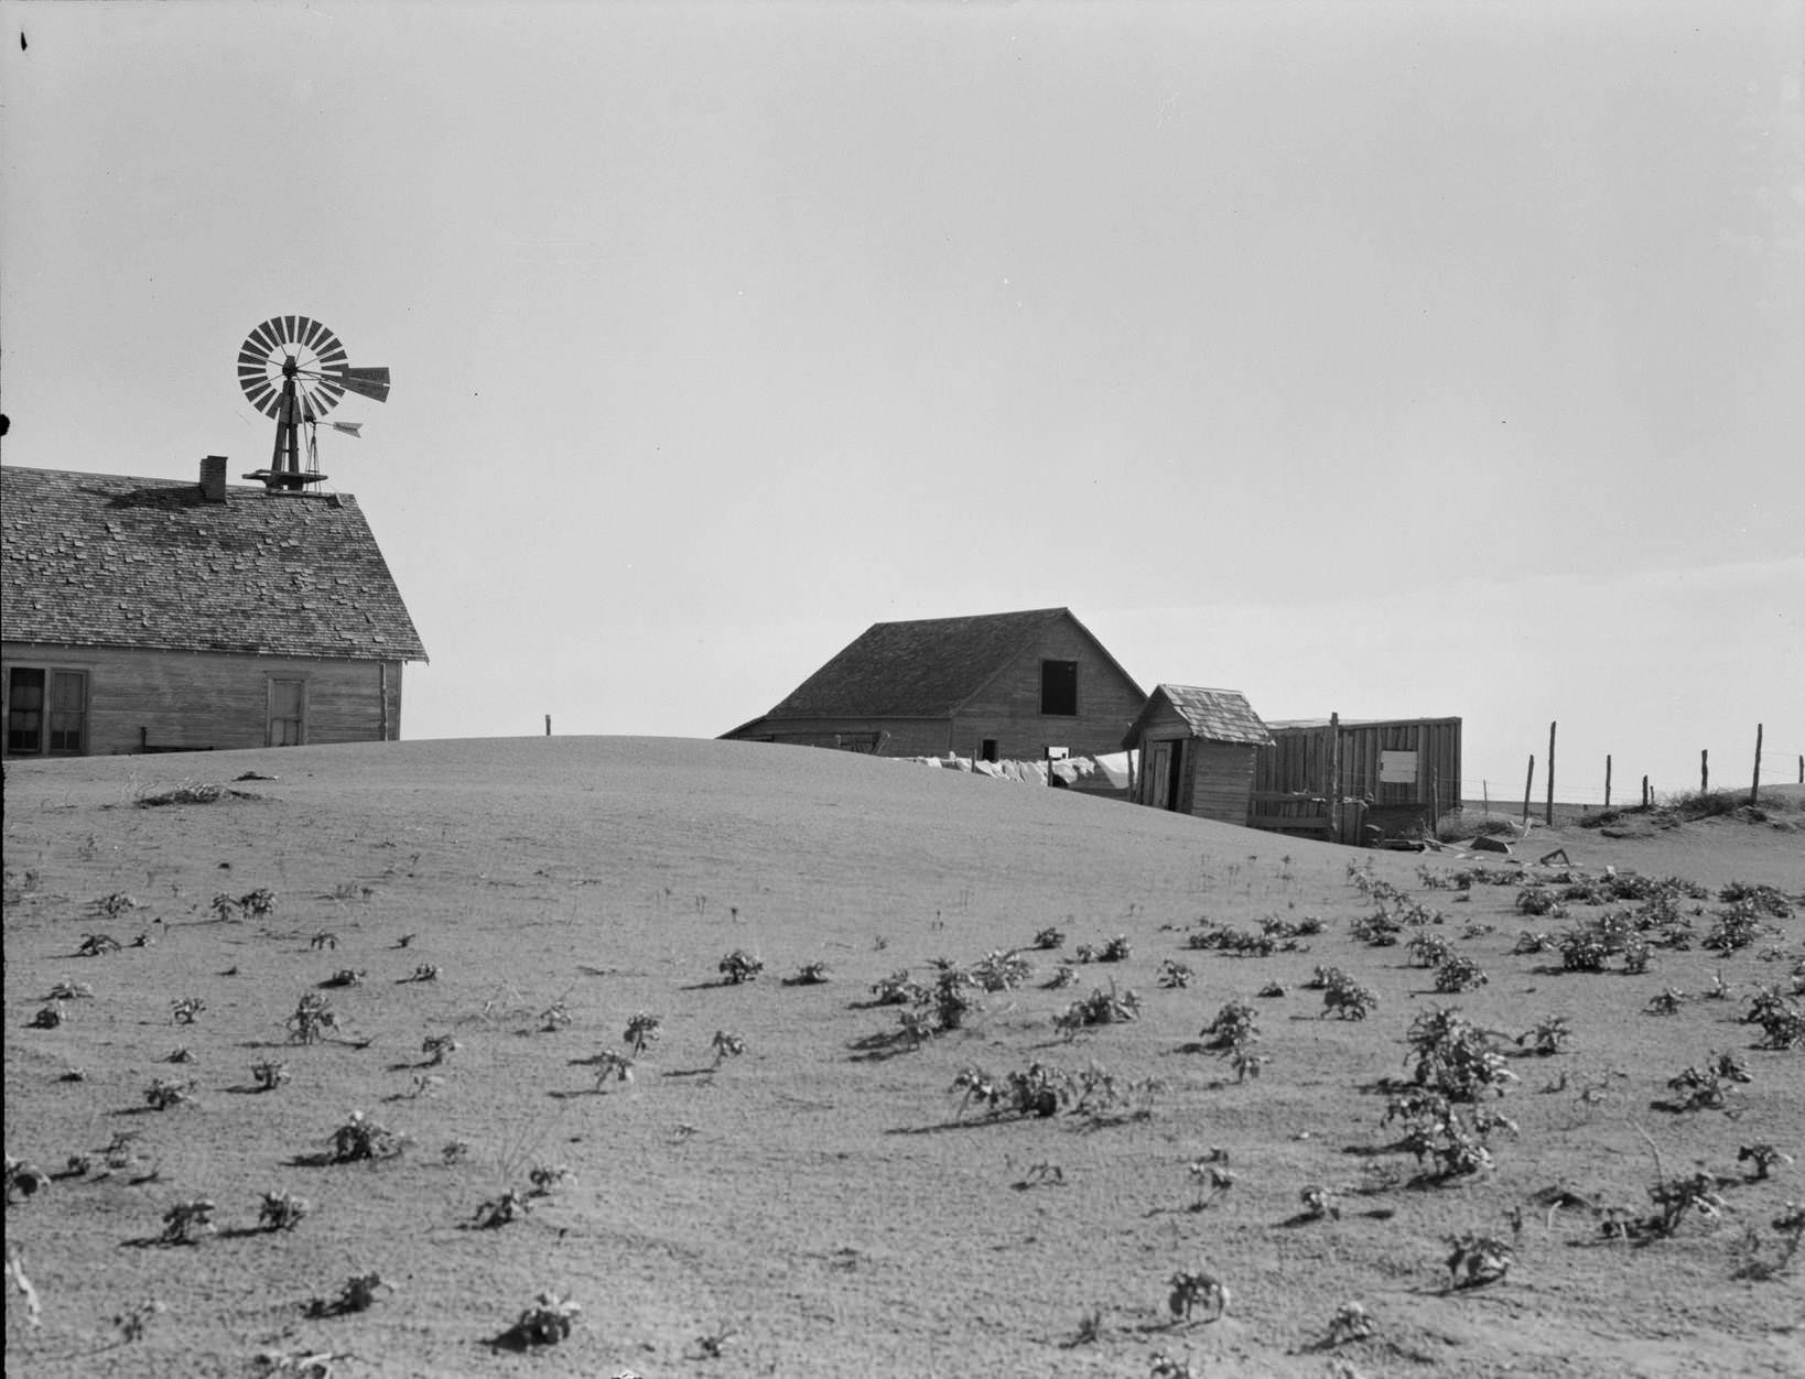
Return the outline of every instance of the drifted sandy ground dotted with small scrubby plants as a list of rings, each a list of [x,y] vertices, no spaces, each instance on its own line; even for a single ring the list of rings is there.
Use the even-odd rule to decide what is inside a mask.
[[[276,780],[235,778],[262,773]],[[215,803],[143,807],[179,783]],[[1805,892],[1805,832],[1713,821],[1653,838],[1538,830],[1576,870],[1682,875],[1704,933],[1729,881]],[[1404,948],[1350,926],[1374,901],[1357,865],[1437,915],[1487,973],[1439,996]],[[1738,1023],[1805,957],[1800,919],[1735,953],[1657,949],[1643,975],[1514,955],[1514,884],[1446,884],[1473,861],[1352,852],[1063,791],[807,749],[648,738],[318,747],[9,764],[5,782],[7,1153],[58,1173],[9,1204],[7,1240],[42,1300],[7,1296],[9,1375],[245,1375],[258,1354],[334,1354],[339,1375],[1798,1375],[1805,1260],[1769,1222],[1800,1168],[1745,1179],[1742,1144],[1805,1152],[1801,1050]],[[215,895],[273,892],[218,919]],[[114,913],[105,913],[106,897]],[[130,904],[126,904],[126,899]],[[1321,921],[1296,951],[1186,946],[1200,924]],[[1061,951],[1031,949],[1065,931]],[[88,933],[123,949],[81,957]],[[323,939],[319,935],[330,935]],[[1076,964],[1121,935],[1130,957]],[[143,946],[134,940],[143,937]],[[403,940],[404,946],[403,946]],[[720,980],[744,949],[764,973]],[[982,995],[966,1027],[915,1047],[870,987],[897,969],[1027,949],[1029,980]],[[1166,960],[1193,969],[1161,986]],[[803,964],[823,984],[785,984]],[[422,966],[435,980],[406,980]],[[1318,966],[1368,986],[1366,1020],[1321,1018]],[[339,969],[356,986],[319,987]],[[32,1027],[60,980],[92,987]],[[1722,982],[1727,1000],[1706,993]],[[1264,987],[1282,996],[1258,996]],[[1094,989],[1139,1018],[1067,1040],[1054,1016]],[[1673,1014],[1644,1014],[1671,987]],[[285,1020],[310,991],[339,1040]],[[199,998],[191,1023],[171,1004]],[[1200,1049],[1229,1000],[1258,1011],[1264,1076]],[[1404,1034],[1440,1002],[1516,1034],[1565,1016],[1552,1058],[1511,1060],[1489,1171],[1444,1184],[1383,1124],[1408,1076]],[[560,1005],[567,1023],[547,1020]],[[635,1013],[661,1020],[632,1083],[597,1083]],[[556,1025],[556,1027],[549,1027]],[[717,1069],[717,1031],[744,1054]],[[457,1050],[426,1067],[422,1041]],[[182,1063],[164,1061],[177,1049]],[[1514,1050],[1514,1045],[1513,1045]],[[1751,1081],[1724,1108],[1664,1112],[1668,1079],[1717,1050]],[[251,1065],[289,1081],[255,1090]],[[1103,1115],[960,1110],[966,1067],[1052,1063],[1155,1079]],[[79,1079],[69,1072],[79,1070]],[[146,1105],[155,1078],[190,1101]],[[321,1162],[352,1112],[410,1137],[379,1164]],[[130,1161],[99,1152],[130,1132]],[[1650,1209],[1662,1171],[1720,1175],[1726,1211],[1671,1238],[1608,1240],[1585,1206]],[[446,1162],[444,1148],[467,1150]],[[1235,1182],[1204,1209],[1189,1166],[1220,1150]],[[85,1171],[65,1173],[70,1155]],[[473,1217],[534,1166],[569,1177],[529,1215]],[[1325,1186],[1338,1218],[1301,1220]],[[310,1215],[258,1229],[260,1195]],[[170,1206],[206,1197],[217,1231],[157,1244]],[[1513,1226],[1513,1213],[1520,1226]],[[1448,1287],[1448,1238],[1514,1249],[1504,1282]],[[1168,1280],[1208,1269],[1217,1321],[1175,1325]],[[368,1310],[309,1316],[352,1274]],[[561,1345],[495,1347],[540,1291],[581,1318]],[[135,1339],[117,1318],[148,1312]],[[1359,1301],[1366,1339],[1328,1345]],[[711,1354],[718,1352],[718,1354]],[[1348,1370],[1339,1370],[1348,1372]]]

